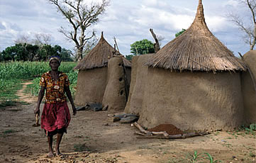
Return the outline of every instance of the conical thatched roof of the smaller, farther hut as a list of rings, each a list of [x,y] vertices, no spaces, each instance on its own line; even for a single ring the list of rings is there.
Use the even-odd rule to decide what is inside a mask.
[[[77,64],[74,69],[86,70],[108,66],[108,57],[113,56],[116,50],[104,39],[101,33],[99,43]],[[125,67],[131,67],[130,61],[123,58]]]

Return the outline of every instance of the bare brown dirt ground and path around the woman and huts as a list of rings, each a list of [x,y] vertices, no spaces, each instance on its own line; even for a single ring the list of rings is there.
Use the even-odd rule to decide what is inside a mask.
[[[109,121],[107,111],[79,111],[72,116],[60,146],[63,155],[50,159],[46,157],[44,131],[32,127],[36,98],[24,93],[25,87],[26,84],[18,95],[28,105],[0,109],[0,162],[190,162],[189,154],[195,151],[207,152],[221,162],[247,163],[256,159],[255,136],[244,131],[217,131],[176,140],[138,139],[134,126]]]

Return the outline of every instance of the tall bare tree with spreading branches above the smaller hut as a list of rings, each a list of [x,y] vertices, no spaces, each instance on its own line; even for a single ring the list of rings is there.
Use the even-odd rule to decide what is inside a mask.
[[[77,51],[77,60],[82,60],[82,52],[87,41],[94,37],[94,31],[90,36],[87,36],[87,28],[99,21],[99,16],[104,13],[107,0],[102,0],[101,4],[88,5],[84,0],[47,0],[51,4],[57,6],[57,10],[67,19],[72,26],[72,31],[67,31],[65,28],[60,28],[60,33],[63,33],[69,40],[75,43]]]

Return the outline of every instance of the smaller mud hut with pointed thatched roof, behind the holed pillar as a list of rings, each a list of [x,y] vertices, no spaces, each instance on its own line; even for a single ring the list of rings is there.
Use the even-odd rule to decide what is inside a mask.
[[[79,69],[77,76],[77,94],[74,103],[84,106],[87,103],[102,103],[110,77],[108,77],[108,60],[116,50],[104,39],[101,33],[99,43],[74,69]],[[130,72],[130,62],[122,58],[123,65]],[[128,77],[130,79],[130,77]],[[130,82],[130,81],[129,81]]]

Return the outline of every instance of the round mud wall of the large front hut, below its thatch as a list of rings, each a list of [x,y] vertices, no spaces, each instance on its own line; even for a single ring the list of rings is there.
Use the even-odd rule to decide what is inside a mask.
[[[239,73],[148,69],[139,123],[171,123],[182,130],[231,129],[243,124]]]

